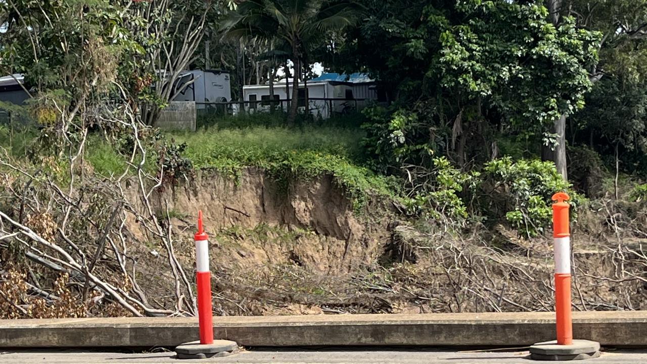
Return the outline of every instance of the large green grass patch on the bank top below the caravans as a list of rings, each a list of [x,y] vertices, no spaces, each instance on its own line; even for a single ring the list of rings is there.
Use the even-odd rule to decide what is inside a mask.
[[[184,156],[195,168],[215,168],[237,178],[242,168],[258,166],[286,188],[294,179],[330,174],[344,188],[356,210],[362,209],[369,191],[395,196],[390,179],[364,166],[364,132],[353,124],[339,126],[333,122],[334,126],[305,124],[285,128],[252,122],[248,123],[252,126],[245,126],[245,120],[252,116],[245,115],[241,120],[230,117],[234,120],[229,120],[226,127],[218,124],[169,137],[176,143],[187,144]],[[267,120],[273,119],[261,119]]]

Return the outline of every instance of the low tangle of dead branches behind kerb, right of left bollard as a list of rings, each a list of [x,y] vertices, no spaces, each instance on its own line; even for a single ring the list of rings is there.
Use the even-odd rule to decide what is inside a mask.
[[[549,239],[501,249],[477,236],[395,229],[390,263],[327,276],[300,266],[268,271],[215,269],[220,314],[441,313],[552,311]],[[594,249],[595,248],[595,249]],[[647,308],[647,256],[641,245],[600,244],[573,256],[573,310]]]

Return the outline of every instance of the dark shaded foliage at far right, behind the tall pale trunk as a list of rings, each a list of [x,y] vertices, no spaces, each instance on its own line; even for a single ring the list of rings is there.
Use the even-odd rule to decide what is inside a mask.
[[[617,191],[621,166],[647,171],[647,1],[565,0],[560,12],[575,16],[578,27],[602,33],[600,62],[590,71],[595,88],[569,131],[573,143],[613,156],[608,160],[615,164]]]

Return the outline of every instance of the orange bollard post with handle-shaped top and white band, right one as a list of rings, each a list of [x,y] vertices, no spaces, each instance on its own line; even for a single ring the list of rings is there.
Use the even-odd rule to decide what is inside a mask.
[[[573,343],[571,316],[571,233],[569,231],[569,196],[553,195],[553,249],[555,255],[555,313],[558,345]]]

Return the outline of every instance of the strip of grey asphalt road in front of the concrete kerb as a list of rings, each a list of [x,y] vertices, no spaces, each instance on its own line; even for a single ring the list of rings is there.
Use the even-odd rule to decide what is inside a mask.
[[[529,364],[527,351],[433,351],[419,349],[367,350],[366,348],[327,350],[243,350],[225,358],[179,360],[174,352],[88,352],[0,349],[2,364],[130,364],[130,363],[246,363],[246,364]],[[552,363],[567,363],[553,361]],[[572,361],[570,363],[573,363]],[[647,351],[615,350],[604,352],[600,358],[576,361],[582,364],[635,364],[647,363]]]

